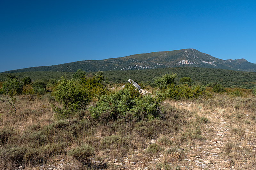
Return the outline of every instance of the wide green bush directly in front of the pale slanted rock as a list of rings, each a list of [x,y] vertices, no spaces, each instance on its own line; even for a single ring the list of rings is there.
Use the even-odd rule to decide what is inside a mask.
[[[142,96],[133,85],[126,84],[123,90],[101,96],[96,106],[90,107],[89,110],[97,119],[101,114],[105,115],[105,121],[124,117],[127,112],[131,112],[139,119],[143,117],[152,119],[161,116],[159,102],[156,97]]]

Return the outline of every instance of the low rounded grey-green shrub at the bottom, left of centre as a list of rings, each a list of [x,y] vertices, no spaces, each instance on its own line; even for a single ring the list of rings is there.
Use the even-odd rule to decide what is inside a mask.
[[[84,161],[87,161],[90,156],[92,156],[93,152],[94,152],[94,149],[92,148],[92,146],[84,144],[70,150],[68,154],[84,162]]]

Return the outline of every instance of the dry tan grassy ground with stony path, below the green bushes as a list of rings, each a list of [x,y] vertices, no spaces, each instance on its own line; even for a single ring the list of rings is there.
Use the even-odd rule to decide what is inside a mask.
[[[10,113],[12,108],[2,98],[0,169],[20,165],[39,169],[62,158],[64,169],[200,169],[196,160],[213,162],[208,168],[252,169],[256,166],[256,99],[241,92],[237,96],[240,93],[231,89],[209,99],[166,100],[161,104],[163,119],[124,118],[105,124],[87,110],[58,120],[52,110],[52,104],[58,103],[49,94],[17,96],[16,114]],[[220,129],[222,124],[225,130]],[[79,148],[84,145],[94,151],[83,155]],[[70,151],[76,151],[77,158]],[[216,151],[219,157],[208,156]]]

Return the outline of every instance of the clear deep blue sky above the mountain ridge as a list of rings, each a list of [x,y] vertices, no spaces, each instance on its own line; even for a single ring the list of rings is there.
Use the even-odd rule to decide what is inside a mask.
[[[256,63],[256,1],[0,2],[0,72],[195,48]]]

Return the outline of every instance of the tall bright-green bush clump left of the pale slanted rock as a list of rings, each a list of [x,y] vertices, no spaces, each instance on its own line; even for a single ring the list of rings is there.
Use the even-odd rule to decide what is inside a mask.
[[[77,70],[74,77],[68,80],[62,76],[53,88],[54,98],[63,106],[63,108],[55,107],[59,117],[65,118],[80,109],[85,109],[92,98],[97,99],[108,92],[104,76],[100,71],[93,77],[85,77],[82,70]]]

